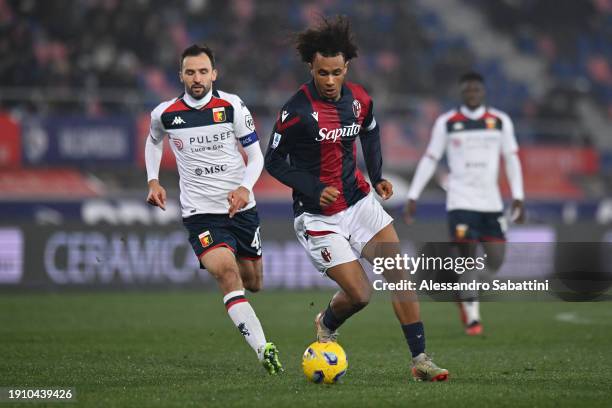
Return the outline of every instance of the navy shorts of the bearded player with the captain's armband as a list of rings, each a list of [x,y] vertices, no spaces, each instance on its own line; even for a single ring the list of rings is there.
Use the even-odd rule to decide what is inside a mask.
[[[226,247],[243,259],[261,258],[259,215],[255,207],[230,218],[227,214],[196,214],[183,218],[189,242],[198,259],[214,248]]]

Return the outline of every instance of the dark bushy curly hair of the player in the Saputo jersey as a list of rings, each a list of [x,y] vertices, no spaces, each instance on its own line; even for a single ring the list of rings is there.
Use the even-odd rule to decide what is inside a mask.
[[[324,57],[342,54],[346,61],[357,56],[351,23],[346,16],[336,16],[333,20],[321,17],[318,27],[309,28],[296,35],[295,48],[302,61],[307,63],[312,63],[317,52]]]

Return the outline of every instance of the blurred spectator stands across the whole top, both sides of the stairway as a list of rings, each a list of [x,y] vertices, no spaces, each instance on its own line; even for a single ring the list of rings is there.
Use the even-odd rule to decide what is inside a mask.
[[[345,13],[360,46],[351,78],[377,100],[428,98],[438,113],[457,100],[457,77],[476,67],[495,85],[492,102],[512,115],[572,118],[579,91],[612,117],[612,0],[464,1],[546,61],[556,81],[547,97],[534,101],[501,62],[478,61],[469,40],[417,0],[0,0],[0,108],[147,110],[180,92],[181,50],[206,42],[217,52],[219,86],[272,115],[308,78],[292,34]]]

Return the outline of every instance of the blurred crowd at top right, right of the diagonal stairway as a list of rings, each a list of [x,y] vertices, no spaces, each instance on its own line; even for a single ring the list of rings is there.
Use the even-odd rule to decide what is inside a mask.
[[[555,80],[556,105],[544,115],[571,115],[575,91],[587,93],[612,118],[612,0],[470,0],[525,54],[542,58]],[[568,103],[557,102],[567,99]]]

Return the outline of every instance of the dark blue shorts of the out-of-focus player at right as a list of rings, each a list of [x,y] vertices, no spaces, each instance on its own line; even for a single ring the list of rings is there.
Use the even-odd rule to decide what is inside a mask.
[[[448,228],[455,242],[505,241],[505,223],[501,212],[451,210]]]

